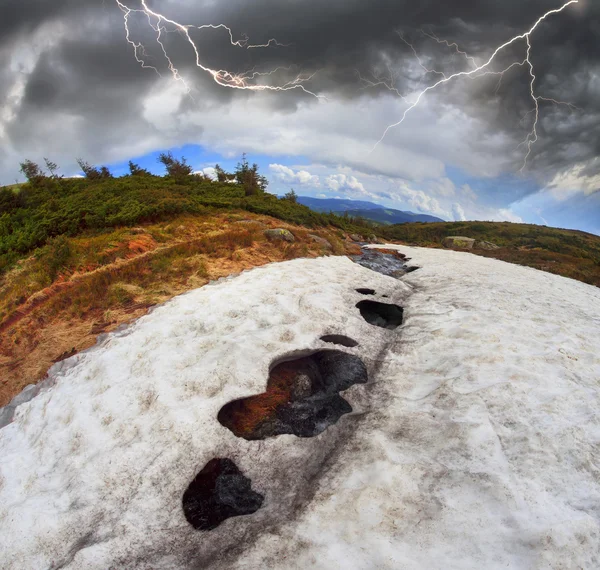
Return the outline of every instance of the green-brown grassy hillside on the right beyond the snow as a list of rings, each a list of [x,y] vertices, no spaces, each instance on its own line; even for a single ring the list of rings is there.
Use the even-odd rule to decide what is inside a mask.
[[[381,232],[388,239],[424,247],[442,247],[448,236],[489,241],[500,249],[473,253],[600,287],[600,237],[585,232],[509,222],[402,224],[382,228]]]

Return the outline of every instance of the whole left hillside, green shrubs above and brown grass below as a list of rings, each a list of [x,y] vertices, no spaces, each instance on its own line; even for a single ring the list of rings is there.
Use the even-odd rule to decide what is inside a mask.
[[[267,239],[273,228],[291,231],[294,243]],[[0,406],[98,334],[210,280],[358,253],[344,229],[364,227],[194,176],[45,178],[0,189]]]

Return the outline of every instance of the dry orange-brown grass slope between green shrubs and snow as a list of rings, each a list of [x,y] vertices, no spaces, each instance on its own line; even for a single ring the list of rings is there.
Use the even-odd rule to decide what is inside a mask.
[[[276,227],[297,241],[268,241],[264,229]],[[252,267],[331,253],[308,233],[248,212],[187,215],[70,239],[70,257],[54,280],[46,253],[19,263],[0,282],[0,406],[42,379],[53,362],[93,346],[98,334],[153,305]],[[350,253],[338,234],[319,232],[334,254]]]

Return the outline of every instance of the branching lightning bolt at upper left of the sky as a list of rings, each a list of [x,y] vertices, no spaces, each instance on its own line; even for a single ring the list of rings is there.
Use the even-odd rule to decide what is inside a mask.
[[[146,59],[148,58],[148,55],[146,53],[144,45],[139,42],[136,42],[131,37],[129,19],[132,14],[140,14],[140,15],[143,15],[145,18],[147,18],[150,28],[156,34],[156,42],[158,43],[158,45],[163,53],[163,56],[165,58],[165,61],[167,62],[167,66],[169,68],[169,71],[171,72],[171,75],[173,76],[173,78],[176,81],[181,82],[185,86],[186,91],[188,93],[191,92],[191,89],[190,89],[189,85],[187,84],[187,82],[185,81],[185,79],[179,73],[179,70],[173,63],[173,60],[170,58],[167,48],[164,44],[163,35],[165,33],[172,32],[172,31],[179,32],[185,38],[187,43],[191,46],[191,48],[195,54],[196,66],[199,69],[201,69],[202,71],[204,71],[205,73],[209,74],[213,78],[213,80],[222,87],[227,87],[230,89],[241,89],[241,90],[247,90],[247,91],[291,91],[291,90],[297,89],[297,90],[303,91],[304,93],[306,93],[308,95],[312,95],[313,97],[316,97],[319,99],[325,99],[325,97],[323,97],[322,95],[317,95],[316,93],[313,93],[312,91],[310,91],[309,89],[307,89],[305,87],[305,83],[310,81],[314,77],[316,72],[311,75],[308,75],[308,76],[298,75],[295,79],[293,79],[291,81],[287,81],[286,83],[284,83],[282,85],[261,85],[261,84],[257,84],[257,83],[252,83],[252,81],[255,80],[257,77],[270,76],[270,75],[275,74],[277,71],[280,71],[282,69],[290,69],[290,68],[278,67],[278,68],[276,68],[272,71],[268,71],[268,72],[257,72],[257,71],[252,70],[250,72],[239,73],[239,74],[232,73],[225,69],[211,69],[210,67],[208,67],[202,63],[201,57],[200,57],[200,51],[198,49],[198,46],[194,43],[194,40],[190,36],[190,30],[192,30],[192,29],[224,30],[228,34],[229,42],[232,46],[244,48],[244,49],[261,49],[261,48],[269,48],[272,46],[286,47],[286,44],[281,44],[275,39],[270,39],[265,44],[253,45],[253,44],[249,43],[249,39],[247,36],[243,36],[241,40],[236,41],[233,37],[233,32],[232,32],[231,28],[229,28],[225,24],[204,24],[202,26],[183,25],[183,24],[180,24],[179,22],[176,22],[175,20],[171,20],[170,18],[167,18],[163,14],[160,14],[158,12],[151,10],[148,7],[147,0],[139,0],[139,2],[140,2],[139,8],[130,8],[123,0],[115,0],[115,1],[117,3],[117,6],[119,7],[119,9],[121,10],[121,12],[123,12],[123,22],[125,25],[125,38],[126,38],[127,42],[132,46],[135,59],[138,61],[138,63],[143,68],[153,69],[154,71],[156,71],[156,73],[158,73],[160,75],[160,72],[158,71],[158,69],[155,66],[146,63]],[[171,29],[168,29],[168,27],[171,27]]]

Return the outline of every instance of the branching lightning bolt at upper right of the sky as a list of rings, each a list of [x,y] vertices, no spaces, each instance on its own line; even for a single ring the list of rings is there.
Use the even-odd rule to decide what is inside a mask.
[[[540,102],[541,101],[545,101],[545,102],[553,103],[553,104],[556,104],[556,105],[566,105],[566,106],[569,106],[570,108],[578,109],[578,107],[575,107],[575,105],[572,105],[570,103],[566,103],[564,101],[557,101],[555,99],[550,99],[550,98],[547,98],[547,97],[542,97],[540,95],[536,95],[535,84],[536,84],[537,77],[535,75],[535,68],[534,68],[533,63],[531,61],[531,50],[532,50],[531,36],[532,36],[532,34],[536,31],[536,29],[539,27],[539,25],[544,20],[546,20],[547,18],[549,18],[550,16],[552,16],[554,14],[559,14],[560,12],[563,12],[569,6],[571,6],[572,4],[578,4],[579,1],[580,0],[569,0],[569,2],[566,2],[565,4],[563,4],[560,8],[556,8],[554,10],[550,10],[550,11],[546,12],[544,15],[542,15],[542,16],[540,16],[540,18],[538,18],[538,20],[533,24],[533,26],[531,26],[531,28],[529,28],[529,30],[527,32],[524,32],[522,34],[514,36],[513,38],[511,38],[507,42],[505,42],[502,45],[498,46],[494,50],[494,52],[492,53],[491,57],[487,61],[485,61],[483,64],[480,64],[480,65],[477,64],[477,62],[476,62],[476,60],[474,58],[472,58],[471,56],[469,56],[466,52],[462,51],[457,44],[450,43],[450,42],[448,42],[446,40],[440,40],[434,34],[428,34],[428,33],[423,32],[424,35],[429,36],[431,39],[435,40],[436,42],[438,42],[440,44],[445,44],[449,48],[454,48],[455,51],[456,51],[456,53],[463,55],[467,59],[467,61],[472,66],[474,66],[470,70],[459,71],[459,72],[456,72],[456,73],[452,73],[450,75],[445,75],[444,73],[442,73],[440,71],[436,71],[436,70],[432,70],[432,69],[427,68],[423,64],[421,58],[417,54],[417,51],[414,49],[414,47],[407,40],[405,40],[404,37],[400,36],[401,39],[412,49],[413,53],[415,54],[415,56],[417,58],[417,61],[418,61],[419,65],[427,73],[436,73],[436,74],[441,75],[442,78],[439,79],[437,82],[433,83],[432,85],[429,85],[428,87],[424,88],[419,93],[417,93],[416,99],[412,103],[410,103],[409,106],[404,110],[404,113],[402,114],[402,117],[400,118],[400,120],[397,121],[396,123],[393,123],[393,124],[389,125],[385,129],[385,131],[384,131],[383,135],[381,136],[381,138],[375,143],[375,145],[371,149],[371,153],[379,146],[379,144],[381,144],[383,142],[383,140],[385,139],[385,137],[387,136],[387,134],[392,129],[400,126],[404,122],[404,120],[406,119],[407,115],[413,109],[415,109],[415,107],[417,107],[419,105],[419,103],[422,101],[423,97],[427,93],[429,93],[430,91],[433,91],[433,90],[437,89],[438,87],[440,87],[441,85],[444,85],[444,84],[446,84],[446,83],[448,83],[448,82],[450,82],[450,81],[452,81],[454,79],[457,79],[459,77],[468,77],[468,78],[473,79],[473,78],[483,77],[485,75],[499,75],[500,76],[498,87],[496,88],[496,89],[498,89],[499,86],[500,86],[500,82],[502,81],[502,78],[503,78],[504,74],[507,71],[509,71],[513,67],[517,67],[517,66],[524,67],[524,66],[527,66],[527,68],[529,70],[529,78],[530,78],[530,82],[529,82],[530,94],[531,94],[531,100],[533,102],[533,109],[528,114],[533,113],[534,120],[533,120],[533,126],[531,128],[531,131],[527,134],[527,138],[519,145],[519,146],[526,146],[527,147],[527,153],[525,155],[523,166],[520,169],[520,172],[522,172],[525,169],[525,167],[527,166],[527,161],[528,161],[529,157],[531,156],[531,148],[532,148],[532,146],[539,139],[537,127],[538,127],[538,122],[539,122],[539,118],[540,118]],[[489,69],[489,67],[494,62],[494,60],[496,59],[496,57],[498,56],[498,54],[501,53],[506,48],[508,48],[509,46],[511,46],[511,45],[513,45],[513,44],[515,44],[515,43],[517,43],[519,41],[525,41],[526,42],[527,50],[526,50],[525,58],[522,61],[516,61],[514,63],[511,63],[508,67],[506,67],[502,71],[491,71]]]

